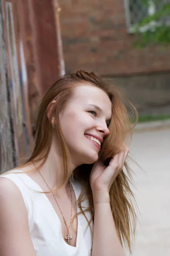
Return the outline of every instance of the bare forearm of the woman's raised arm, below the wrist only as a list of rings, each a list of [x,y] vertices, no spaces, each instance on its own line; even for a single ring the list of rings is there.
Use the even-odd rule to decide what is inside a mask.
[[[106,195],[106,198],[109,198],[109,195]],[[92,256],[125,256],[116,233],[109,200],[94,204]]]

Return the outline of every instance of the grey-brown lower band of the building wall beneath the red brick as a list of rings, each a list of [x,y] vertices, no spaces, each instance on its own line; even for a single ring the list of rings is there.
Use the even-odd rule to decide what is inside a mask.
[[[170,115],[170,73],[110,78],[136,107],[139,115]]]

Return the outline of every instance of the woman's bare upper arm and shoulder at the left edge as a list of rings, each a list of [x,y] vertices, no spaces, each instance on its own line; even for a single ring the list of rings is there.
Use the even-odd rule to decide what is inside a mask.
[[[5,177],[0,178],[0,256],[36,256],[23,197]]]

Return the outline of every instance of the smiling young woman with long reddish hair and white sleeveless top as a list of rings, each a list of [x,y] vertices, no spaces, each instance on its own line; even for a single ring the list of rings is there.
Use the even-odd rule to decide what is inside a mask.
[[[121,98],[84,71],[48,89],[31,157],[0,178],[0,256],[125,256],[136,214]]]

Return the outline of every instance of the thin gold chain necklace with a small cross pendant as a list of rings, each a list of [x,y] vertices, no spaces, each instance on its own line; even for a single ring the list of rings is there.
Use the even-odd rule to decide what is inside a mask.
[[[46,180],[45,180],[44,177],[42,176],[41,172],[39,171],[39,169],[37,168],[37,166],[35,165],[35,163],[34,163],[33,161],[32,161],[32,163],[34,164],[34,166],[35,166],[35,168],[37,169],[37,171],[40,173],[40,175],[41,175],[42,179],[44,180],[44,182],[46,183],[46,185],[48,186]],[[70,182],[70,181],[69,181],[69,182]],[[54,193],[52,192],[52,190],[50,189],[49,186],[48,186],[48,189],[49,189],[49,190],[51,191],[51,193],[53,194],[54,199],[55,199],[55,201],[56,201],[56,203],[57,203],[57,205],[58,205],[58,207],[59,207],[59,204],[58,204],[58,202],[57,202],[57,199],[56,199]],[[70,194],[71,194],[71,182],[70,182]],[[62,214],[62,210],[60,209],[60,207],[59,207],[59,210],[60,210],[60,212],[61,212],[61,214]],[[73,201],[72,201],[72,195],[71,195],[71,220],[72,220],[72,212],[73,212]],[[66,223],[66,221],[65,221],[65,218],[64,218],[63,214],[62,214],[62,218],[63,218],[63,220],[64,220],[65,226],[67,227],[67,223]],[[70,239],[72,239],[72,236],[70,236],[71,220],[70,220],[70,225],[69,225],[69,227],[67,227],[67,231],[68,231],[68,232],[67,232],[67,236],[65,236],[65,239],[67,240],[67,243],[68,243],[68,244],[70,244]]]

